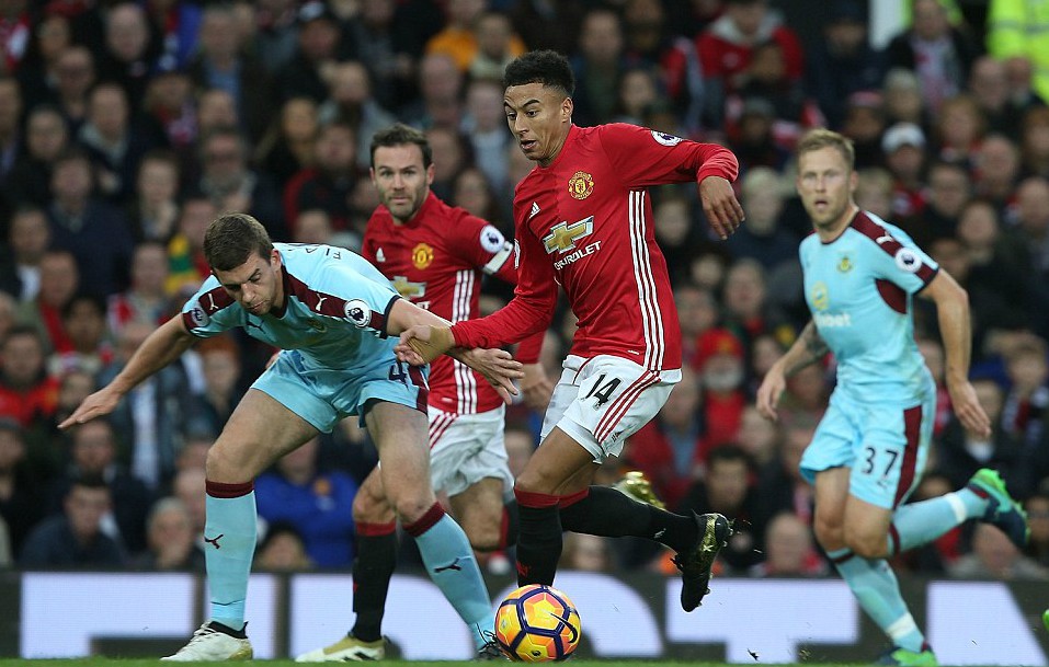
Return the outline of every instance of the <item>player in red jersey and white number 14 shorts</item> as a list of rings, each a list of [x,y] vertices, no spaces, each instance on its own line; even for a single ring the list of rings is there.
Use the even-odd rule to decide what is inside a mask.
[[[554,583],[561,531],[636,536],[677,552],[681,605],[703,600],[718,550],[731,534],[718,514],[682,516],[591,486],[602,461],[651,419],[681,379],[681,331],[666,262],[655,244],[647,188],[698,184],[723,239],[743,219],[730,181],[736,157],[648,129],[572,124],[574,80],[545,50],[506,67],[504,108],[537,166],[514,195],[518,283],[499,312],[401,334],[401,358],[421,364],[453,347],[498,347],[549,326],[557,286],[579,318],[572,349],[543,425],[543,441],[516,480],[517,580]]]

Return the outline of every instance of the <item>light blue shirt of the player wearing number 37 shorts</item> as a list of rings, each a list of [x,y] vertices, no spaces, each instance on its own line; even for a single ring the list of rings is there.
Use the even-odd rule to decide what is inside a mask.
[[[805,299],[837,360],[837,391],[860,402],[921,400],[931,375],[914,342],[912,300],[939,266],[898,227],[859,211],[842,234],[799,248]]]

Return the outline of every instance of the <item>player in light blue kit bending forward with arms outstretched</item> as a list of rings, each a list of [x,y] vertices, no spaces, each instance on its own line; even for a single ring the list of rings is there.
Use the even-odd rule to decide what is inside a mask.
[[[364,258],[328,245],[271,243],[258,220],[221,216],[208,227],[209,277],[155,331],[124,370],[61,424],[112,412],[128,391],[197,338],[242,326],[283,352],[241,400],[207,457],[204,530],[212,618],[167,660],[252,656],[244,632],[255,548],[254,478],[278,458],[357,415],[379,452],[381,481],[423,563],[478,642],[492,626],[491,601],[461,528],[430,484],[425,370],[399,363],[397,334],[447,323],[394,291]],[[520,365],[502,350],[464,350],[460,360],[509,399]],[[455,565],[454,567],[449,564]]]

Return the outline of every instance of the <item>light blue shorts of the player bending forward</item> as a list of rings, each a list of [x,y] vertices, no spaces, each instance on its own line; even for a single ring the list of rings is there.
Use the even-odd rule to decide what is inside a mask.
[[[354,370],[313,366],[298,350],[285,349],[252,384],[265,392],[317,430],[331,433],[343,417],[358,415],[364,426],[368,401],[386,401],[414,407],[426,414],[430,367],[410,367],[388,357]]]

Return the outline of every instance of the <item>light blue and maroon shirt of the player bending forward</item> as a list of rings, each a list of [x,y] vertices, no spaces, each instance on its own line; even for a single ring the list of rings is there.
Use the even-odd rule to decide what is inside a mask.
[[[400,296],[360,255],[343,248],[274,243],[284,265],[284,312],[255,315],[210,276],[182,308],[186,329],[209,337],[242,326],[253,338],[297,349],[317,368],[363,369],[392,357],[389,310]]]

